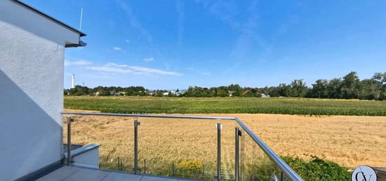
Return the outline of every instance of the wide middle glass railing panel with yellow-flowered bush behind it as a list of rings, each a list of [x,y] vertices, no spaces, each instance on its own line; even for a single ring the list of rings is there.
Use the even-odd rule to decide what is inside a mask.
[[[215,180],[219,120],[140,117],[139,121],[140,173]]]

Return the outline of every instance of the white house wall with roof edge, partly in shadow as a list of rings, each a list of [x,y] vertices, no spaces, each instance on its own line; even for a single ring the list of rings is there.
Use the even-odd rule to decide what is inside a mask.
[[[64,50],[79,34],[10,0],[0,12],[0,180],[14,180],[63,157]]]

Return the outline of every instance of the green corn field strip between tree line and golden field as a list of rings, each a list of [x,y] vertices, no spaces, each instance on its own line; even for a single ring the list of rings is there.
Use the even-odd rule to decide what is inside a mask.
[[[65,108],[102,113],[267,113],[385,116],[386,101],[305,98],[65,96]]]

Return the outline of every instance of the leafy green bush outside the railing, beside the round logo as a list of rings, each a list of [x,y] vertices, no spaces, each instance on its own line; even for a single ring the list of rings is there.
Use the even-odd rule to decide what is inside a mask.
[[[319,159],[315,156],[312,156],[311,161],[305,161],[298,157],[283,157],[282,159],[304,180],[350,180],[350,173],[347,168],[332,161]]]

